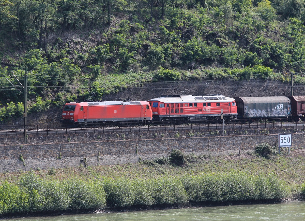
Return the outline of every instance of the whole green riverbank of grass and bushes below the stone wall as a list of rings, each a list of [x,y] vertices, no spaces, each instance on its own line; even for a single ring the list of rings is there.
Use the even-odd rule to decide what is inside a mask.
[[[246,151],[219,157],[174,151],[136,164],[4,172],[0,216],[300,198],[303,152],[266,158]]]

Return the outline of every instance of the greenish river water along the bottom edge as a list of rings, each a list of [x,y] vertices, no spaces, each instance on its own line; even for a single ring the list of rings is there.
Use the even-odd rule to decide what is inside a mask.
[[[30,217],[9,220],[118,221],[118,220],[305,220],[305,202],[197,207],[138,212],[93,213]]]

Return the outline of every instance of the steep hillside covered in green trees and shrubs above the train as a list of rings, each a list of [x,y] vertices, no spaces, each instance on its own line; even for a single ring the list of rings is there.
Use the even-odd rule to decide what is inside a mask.
[[[299,0],[2,0],[0,12],[0,123],[23,115],[26,72],[29,114],[156,82],[305,81]]]

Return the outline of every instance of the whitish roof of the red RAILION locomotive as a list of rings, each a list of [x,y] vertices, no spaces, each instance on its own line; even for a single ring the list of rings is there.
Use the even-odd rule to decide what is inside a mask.
[[[181,102],[232,102],[234,101],[233,98],[228,98],[223,95],[200,95],[200,96],[193,96],[193,95],[173,95],[172,97],[159,97],[154,98],[149,101],[161,101],[164,103],[170,102],[170,103],[181,103]]]

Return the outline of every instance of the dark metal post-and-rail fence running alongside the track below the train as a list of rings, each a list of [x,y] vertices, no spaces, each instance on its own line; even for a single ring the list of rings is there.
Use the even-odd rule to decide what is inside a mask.
[[[293,121],[292,119],[249,119],[249,120],[232,120],[230,122],[218,122],[215,120],[207,121],[161,121],[154,123],[100,123],[100,124],[31,124],[31,125],[0,125],[0,135],[9,136],[16,134],[58,134],[58,133],[87,133],[87,132],[128,132],[128,131],[169,131],[169,130],[209,130],[209,129],[247,129],[247,128],[282,128],[294,127],[294,129],[305,129],[304,121]]]

